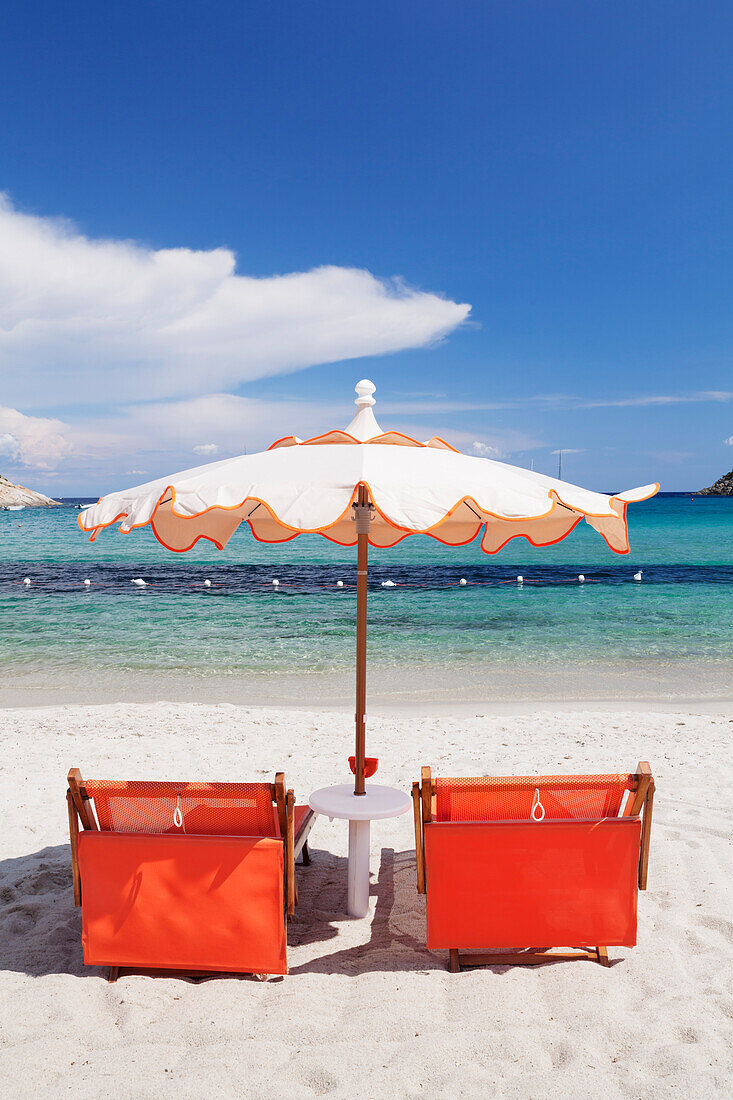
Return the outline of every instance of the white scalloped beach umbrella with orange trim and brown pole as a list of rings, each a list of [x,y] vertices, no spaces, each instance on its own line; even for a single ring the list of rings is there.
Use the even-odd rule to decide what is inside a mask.
[[[119,522],[124,534],[150,525],[168,550],[199,539],[220,550],[241,522],[262,542],[317,532],[358,546],[355,793],[364,791],[368,547],[393,547],[409,535],[463,546],[481,534],[496,553],[522,536],[533,546],[559,542],[582,520],[616,553],[628,552],[626,506],[653,496],[644,485],[615,496],[519,466],[461,454],[434,437],[419,442],[383,432],[374,386],[358,384],[357,415],[344,430],[314,439],[287,436],[258,454],[223,459],[135,488],[109,493],[79,514],[90,531]]]

